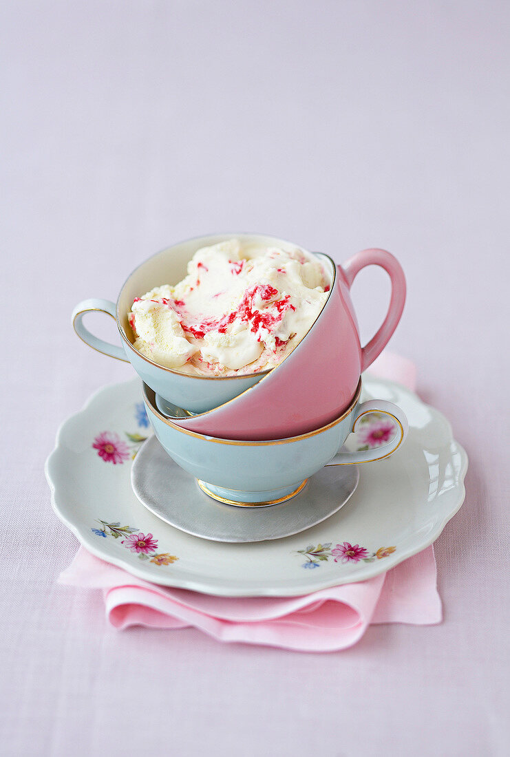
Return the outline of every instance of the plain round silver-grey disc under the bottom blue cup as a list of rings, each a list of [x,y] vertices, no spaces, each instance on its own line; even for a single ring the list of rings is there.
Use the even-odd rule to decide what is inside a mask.
[[[344,506],[358,481],[356,466],[327,466],[286,502],[225,505],[204,494],[155,436],[143,444],[131,472],[138,500],[158,518],[203,539],[238,543],[281,539],[317,525]]]

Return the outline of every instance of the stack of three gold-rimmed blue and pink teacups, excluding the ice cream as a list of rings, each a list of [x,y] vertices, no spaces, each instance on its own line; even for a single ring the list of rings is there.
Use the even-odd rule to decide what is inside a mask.
[[[163,283],[176,284],[198,249],[230,238],[289,247],[281,239],[247,234],[200,237],[173,245],[133,271],[117,304],[87,300],[76,306],[73,325],[91,347],[132,363],[144,382],[145,407],[157,439],[179,466],[197,478],[203,491],[221,502],[263,506],[293,497],[309,476],[331,461],[346,465],[382,459],[405,438],[407,422],[400,408],[384,400],[359,403],[359,395],[362,371],[380,354],[400,320],[406,283],[400,264],[384,250],[359,252],[344,267],[316,254],[329,279],[328,299],[303,340],[266,372],[188,375],[138,352],[127,320],[133,300]],[[359,270],[371,264],[387,271],[392,293],[381,328],[361,347],[349,290]],[[116,319],[122,348],[86,329],[82,316],[92,310]],[[392,441],[375,450],[339,452],[357,420],[373,412],[385,413],[396,423],[398,432]]]

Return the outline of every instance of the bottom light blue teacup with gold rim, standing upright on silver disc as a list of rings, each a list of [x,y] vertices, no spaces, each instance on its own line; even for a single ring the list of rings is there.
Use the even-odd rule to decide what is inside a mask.
[[[239,506],[285,502],[326,465],[369,463],[390,456],[400,447],[408,431],[403,410],[386,400],[360,403],[360,392],[361,381],[350,407],[333,422],[308,434],[273,441],[235,441],[175,425],[157,409],[154,391],[143,385],[149,421],[166,453],[194,476],[210,497]],[[372,450],[339,452],[358,419],[367,413],[390,416],[398,430],[395,438]]]

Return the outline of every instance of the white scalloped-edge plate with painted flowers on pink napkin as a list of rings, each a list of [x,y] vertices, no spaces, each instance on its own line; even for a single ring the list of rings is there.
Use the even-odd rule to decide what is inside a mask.
[[[369,376],[363,385],[363,399],[403,408],[409,436],[390,458],[359,466],[348,505],[300,534],[220,544],[185,534],[141,505],[131,459],[150,430],[138,379],[102,388],[61,426],[46,462],[54,511],[87,550],[157,584],[291,597],[372,578],[437,539],[464,500],[468,459],[444,416],[415,394]],[[366,431],[359,433],[355,444],[366,441]]]

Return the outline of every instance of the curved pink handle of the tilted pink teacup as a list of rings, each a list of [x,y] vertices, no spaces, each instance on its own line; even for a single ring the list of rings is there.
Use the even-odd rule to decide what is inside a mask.
[[[361,369],[364,371],[371,365],[375,358],[381,354],[386,347],[390,336],[398,326],[400,316],[406,302],[406,277],[396,257],[386,250],[373,248],[362,250],[353,255],[344,266],[344,273],[349,288],[352,286],[354,279],[362,268],[365,266],[381,266],[384,268],[391,279],[391,299],[390,307],[386,313],[381,328],[372,337],[368,344],[362,348]]]

